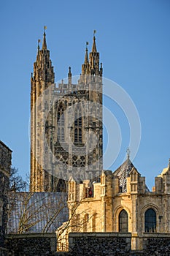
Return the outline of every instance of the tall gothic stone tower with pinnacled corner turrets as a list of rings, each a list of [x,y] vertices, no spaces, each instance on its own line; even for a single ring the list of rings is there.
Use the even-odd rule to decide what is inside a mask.
[[[71,67],[66,80],[54,84],[54,72],[46,35],[31,75],[31,182],[35,192],[61,191],[63,181],[95,180],[102,160],[102,64],[96,38],[82,74],[72,83]]]

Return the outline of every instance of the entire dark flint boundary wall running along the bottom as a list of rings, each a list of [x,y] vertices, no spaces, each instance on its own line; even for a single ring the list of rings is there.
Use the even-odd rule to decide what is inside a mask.
[[[55,233],[9,235],[0,256],[169,256],[170,233],[144,233],[143,250],[131,251],[131,233],[69,233],[69,252],[56,252]]]

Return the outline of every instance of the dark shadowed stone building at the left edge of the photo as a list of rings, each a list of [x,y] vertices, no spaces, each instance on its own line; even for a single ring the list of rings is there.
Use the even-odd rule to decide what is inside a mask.
[[[0,246],[3,246],[7,233],[7,193],[9,191],[11,159],[12,151],[0,141]]]

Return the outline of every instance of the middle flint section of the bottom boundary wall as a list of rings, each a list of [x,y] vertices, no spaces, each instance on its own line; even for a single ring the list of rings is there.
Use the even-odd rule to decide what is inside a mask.
[[[69,252],[58,256],[129,255],[131,233],[69,233]]]

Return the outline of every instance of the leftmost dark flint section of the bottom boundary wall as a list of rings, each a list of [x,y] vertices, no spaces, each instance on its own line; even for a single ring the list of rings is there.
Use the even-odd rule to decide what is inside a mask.
[[[10,256],[44,256],[56,252],[55,233],[8,235],[6,248]]]

